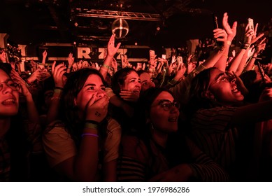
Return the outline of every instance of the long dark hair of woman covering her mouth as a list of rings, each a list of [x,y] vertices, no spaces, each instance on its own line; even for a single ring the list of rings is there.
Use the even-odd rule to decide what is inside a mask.
[[[62,93],[61,106],[60,106],[60,117],[62,122],[66,125],[71,137],[74,139],[77,145],[80,144],[81,132],[78,130],[83,130],[84,122],[78,116],[78,107],[74,104],[74,99],[78,96],[80,90],[90,75],[97,75],[101,78],[104,85],[106,85],[103,76],[96,69],[80,69],[71,73],[66,84],[64,85],[64,90]],[[99,124],[99,136],[101,139],[106,137],[106,118]],[[101,131],[100,131],[101,130]]]

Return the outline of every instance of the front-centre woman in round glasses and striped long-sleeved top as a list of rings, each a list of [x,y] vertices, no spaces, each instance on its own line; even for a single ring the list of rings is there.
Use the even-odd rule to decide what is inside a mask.
[[[227,181],[228,175],[178,134],[180,104],[151,87],[138,100],[138,132],[121,141],[119,181]]]

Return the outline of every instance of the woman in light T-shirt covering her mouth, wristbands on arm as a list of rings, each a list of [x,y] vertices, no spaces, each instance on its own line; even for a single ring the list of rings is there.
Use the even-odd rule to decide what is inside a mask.
[[[71,181],[115,181],[121,129],[107,117],[101,73],[89,68],[72,73],[60,99],[62,121],[48,125],[43,135],[51,167]]]

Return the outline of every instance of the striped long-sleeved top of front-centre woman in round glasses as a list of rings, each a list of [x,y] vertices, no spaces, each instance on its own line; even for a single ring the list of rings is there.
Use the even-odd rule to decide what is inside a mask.
[[[213,162],[207,155],[190,140],[187,140],[192,162],[188,162],[194,173],[194,181],[228,181],[229,176],[217,163]],[[166,155],[150,141],[155,161],[150,161],[150,155],[143,141],[136,137],[122,138],[122,153],[117,165],[118,181],[150,181],[152,177],[167,170],[169,162]],[[179,152],[176,149],[177,153]],[[177,155],[178,156],[178,155]],[[182,163],[180,163],[182,164]]]

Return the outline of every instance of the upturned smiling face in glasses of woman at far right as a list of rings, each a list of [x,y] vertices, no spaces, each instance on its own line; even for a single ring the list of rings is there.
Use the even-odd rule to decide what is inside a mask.
[[[228,76],[227,73],[219,69],[211,70],[208,90],[217,102],[223,104],[234,104],[243,101],[244,98],[237,89],[236,78]]]

